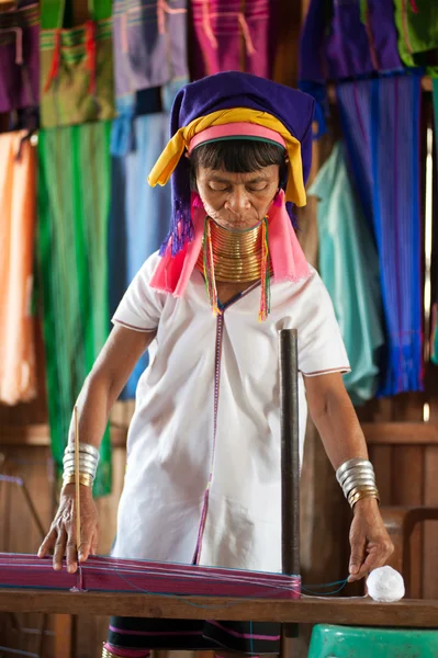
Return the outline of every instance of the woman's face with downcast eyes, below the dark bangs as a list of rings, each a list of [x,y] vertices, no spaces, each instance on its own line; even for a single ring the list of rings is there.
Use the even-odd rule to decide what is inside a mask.
[[[280,167],[250,173],[199,167],[198,192],[207,215],[224,228],[251,228],[267,215],[279,189]]]

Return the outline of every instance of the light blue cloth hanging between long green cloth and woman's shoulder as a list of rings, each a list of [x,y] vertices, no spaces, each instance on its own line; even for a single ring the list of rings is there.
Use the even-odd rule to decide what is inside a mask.
[[[159,249],[171,214],[170,188],[150,188],[147,177],[169,138],[169,114],[173,89],[139,92],[132,118],[132,137],[120,134],[124,152],[112,158],[111,216],[109,230],[110,313],[113,315],[130,283],[145,260]],[[156,97],[162,94],[166,111],[157,112]],[[112,138],[115,138],[113,127]],[[114,146],[114,141],[113,141]],[[110,316],[110,317],[111,317]],[[137,362],[122,399],[135,397],[138,379],[148,364],[147,352]]]

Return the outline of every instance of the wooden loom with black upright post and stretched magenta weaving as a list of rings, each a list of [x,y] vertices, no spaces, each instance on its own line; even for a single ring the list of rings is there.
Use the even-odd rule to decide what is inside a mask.
[[[300,595],[300,577],[289,576],[300,572],[294,330],[280,332],[280,389],[283,575],[91,558],[72,576],[54,572],[49,559],[3,554],[0,611],[438,627],[438,601],[379,604],[364,598]]]

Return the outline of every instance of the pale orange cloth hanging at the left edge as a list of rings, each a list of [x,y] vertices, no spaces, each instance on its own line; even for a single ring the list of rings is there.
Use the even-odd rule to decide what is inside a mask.
[[[36,157],[24,132],[0,135],[0,402],[36,395],[31,316]],[[21,151],[20,160],[16,154]]]

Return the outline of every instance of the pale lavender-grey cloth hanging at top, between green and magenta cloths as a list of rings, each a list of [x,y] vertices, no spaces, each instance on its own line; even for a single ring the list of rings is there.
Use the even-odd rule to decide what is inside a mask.
[[[115,95],[188,79],[187,0],[114,0]]]

